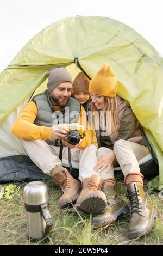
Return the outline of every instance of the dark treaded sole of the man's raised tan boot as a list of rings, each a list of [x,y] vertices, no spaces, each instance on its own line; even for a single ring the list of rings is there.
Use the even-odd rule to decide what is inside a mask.
[[[106,209],[105,201],[100,197],[89,197],[82,203],[75,205],[76,209],[86,214],[98,215],[102,214]]]

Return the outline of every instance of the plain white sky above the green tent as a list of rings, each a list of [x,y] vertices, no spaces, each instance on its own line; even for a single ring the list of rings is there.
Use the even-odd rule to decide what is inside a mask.
[[[76,15],[126,23],[163,56],[162,7],[162,0],[0,0],[0,72],[43,28]]]

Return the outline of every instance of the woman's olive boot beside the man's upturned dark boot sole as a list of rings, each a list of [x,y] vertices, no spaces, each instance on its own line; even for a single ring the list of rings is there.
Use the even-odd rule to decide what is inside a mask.
[[[103,214],[97,215],[92,219],[94,227],[106,227],[114,222],[121,214],[128,214],[128,206],[117,197],[117,192],[113,186],[103,187],[107,198],[106,209]]]

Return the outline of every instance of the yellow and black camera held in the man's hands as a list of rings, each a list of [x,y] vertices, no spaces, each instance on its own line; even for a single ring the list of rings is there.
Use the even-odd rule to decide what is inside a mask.
[[[85,127],[78,123],[66,124],[65,126],[70,131],[67,138],[68,143],[77,145],[80,142],[80,139],[83,139],[85,136]]]

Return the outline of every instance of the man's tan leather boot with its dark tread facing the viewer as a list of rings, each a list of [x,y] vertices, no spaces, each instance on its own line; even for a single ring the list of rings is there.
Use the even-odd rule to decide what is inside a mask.
[[[100,191],[102,179],[93,174],[91,179],[84,179],[83,189],[77,199],[75,207],[87,214],[101,214],[106,208],[106,196]]]

